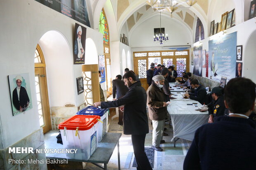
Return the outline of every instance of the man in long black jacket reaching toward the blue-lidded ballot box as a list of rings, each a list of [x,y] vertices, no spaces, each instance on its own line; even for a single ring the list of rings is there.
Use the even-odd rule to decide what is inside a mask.
[[[133,151],[137,161],[137,170],[152,170],[145,154],[145,137],[149,133],[147,117],[147,93],[140,82],[135,81],[135,75],[128,71],[123,75],[123,81],[130,90],[119,100],[111,102],[95,102],[94,107],[120,107],[123,109],[123,134],[132,135]]]

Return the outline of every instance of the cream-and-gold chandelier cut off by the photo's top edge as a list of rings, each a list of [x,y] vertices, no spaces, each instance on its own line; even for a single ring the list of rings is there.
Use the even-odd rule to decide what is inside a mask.
[[[147,0],[147,4],[152,6],[154,9],[158,9],[159,12],[166,11],[170,14],[173,14],[173,12],[180,8],[190,8],[192,5],[194,5],[197,2],[197,0],[185,0],[184,2],[177,3],[177,0]],[[189,7],[183,7],[180,5],[187,4]]]

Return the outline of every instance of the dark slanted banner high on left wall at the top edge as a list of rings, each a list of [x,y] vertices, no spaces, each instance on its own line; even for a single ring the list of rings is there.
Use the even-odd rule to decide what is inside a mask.
[[[36,0],[37,2],[90,27],[86,0]]]

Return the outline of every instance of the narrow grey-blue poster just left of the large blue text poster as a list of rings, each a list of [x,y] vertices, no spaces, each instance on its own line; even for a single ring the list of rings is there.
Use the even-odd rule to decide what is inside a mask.
[[[202,51],[203,51],[202,44],[200,46],[196,46],[193,48],[193,56],[194,56],[193,74],[197,76],[202,76],[202,68],[203,68]]]

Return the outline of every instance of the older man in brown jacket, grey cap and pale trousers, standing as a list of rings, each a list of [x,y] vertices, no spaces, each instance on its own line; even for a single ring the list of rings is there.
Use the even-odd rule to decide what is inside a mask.
[[[163,133],[165,124],[165,115],[167,114],[167,103],[163,91],[164,76],[156,75],[152,78],[154,82],[147,89],[147,106],[149,110],[149,119],[152,120],[152,148],[156,151],[163,151],[160,144],[164,143]]]

